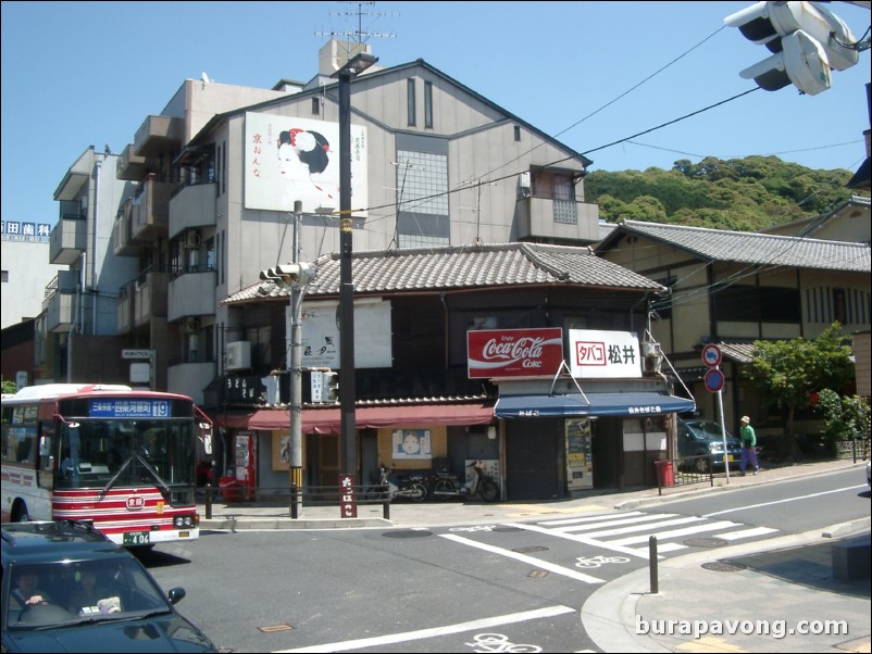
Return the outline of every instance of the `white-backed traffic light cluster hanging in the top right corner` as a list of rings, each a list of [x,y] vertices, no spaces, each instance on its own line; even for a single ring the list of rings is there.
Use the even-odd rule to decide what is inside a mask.
[[[851,30],[817,2],[757,2],[724,23],[774,53],[739,73],[768,91],[793,84],[814,96],[830,88],[831,70],[844,71],[859,61]]]

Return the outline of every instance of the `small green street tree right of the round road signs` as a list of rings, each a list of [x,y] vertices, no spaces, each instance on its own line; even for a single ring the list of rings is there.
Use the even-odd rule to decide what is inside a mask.
[[[746,374],[768,400],[782,410],[784,433],[778,454],[796,461],[794,416],[808,403],[809,393],[823,388],[843,388],[854,374],[851,348],[845,343],[842,325],[833,323],[815,339],[798,337],[782,341],[755,341]]]

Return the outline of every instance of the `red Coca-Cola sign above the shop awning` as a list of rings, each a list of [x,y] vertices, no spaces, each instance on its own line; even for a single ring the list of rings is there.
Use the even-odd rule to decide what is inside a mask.
[[[479,329],[466,332],[469,376],[551,377],[563,361],[563,330]]]

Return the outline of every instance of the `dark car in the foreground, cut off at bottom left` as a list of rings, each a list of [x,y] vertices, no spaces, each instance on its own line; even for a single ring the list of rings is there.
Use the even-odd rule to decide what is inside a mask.
[[[84,523],[2,526],[3,652],[217,652],[129,551]]]

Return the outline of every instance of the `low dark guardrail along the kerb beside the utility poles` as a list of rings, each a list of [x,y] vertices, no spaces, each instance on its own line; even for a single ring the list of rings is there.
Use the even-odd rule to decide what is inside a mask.
[[[285,504],[289,508],[289,515],[292,519],[299,518],[299,508],[301,505],[306,506],[339,506],[347,502],[350,495],[353,498],[354,504],[381,504],[382,515],[386,520],[390,519],[390,490],[388,486],[308,486],[306,488],[298,488],[296,485],[290,486],[258,486],[246,488],[242,486],[227,486],[215,488],[212,485],[197,487],[198,493],[204,494],[205,519],[212,518],[212,505],[215,502],[216,495],[221,493],[225,502],[258,502],[265,501],[275,502],[276,504]],[[253,491],[253,498],[246,498],[246,492]]]

